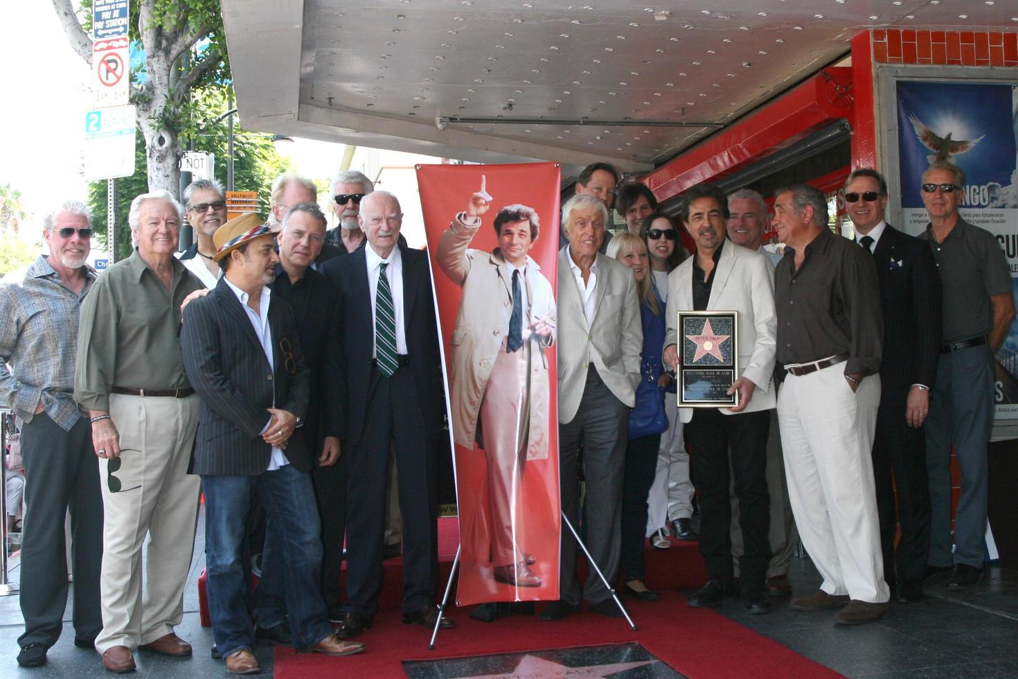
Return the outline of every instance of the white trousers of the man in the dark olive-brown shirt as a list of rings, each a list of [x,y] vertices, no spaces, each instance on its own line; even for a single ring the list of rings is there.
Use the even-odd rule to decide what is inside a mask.
[[[778,393],[788,496],[821,589],[885,603],[871,452],[881,379],[866,377],[853,393],[844,369],[788,375]]]

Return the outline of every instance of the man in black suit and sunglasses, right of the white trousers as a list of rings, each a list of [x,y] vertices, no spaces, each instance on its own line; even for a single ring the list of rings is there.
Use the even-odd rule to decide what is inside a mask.
[[[929,412],[929,390],[937,379],[940,356],[941,278],[929,248],[884,221],[888,191],[879,172],[855,170],[848,176],[843,194],[855,224],[855,240],[872,252],[880,279],[885,333],[873,477],[884,575],[888,584],[896,586],[898,601],[906,604],[922,598],[929,553],[929,489],[922,425]],[[897,554],[896,524],[901,525]]]

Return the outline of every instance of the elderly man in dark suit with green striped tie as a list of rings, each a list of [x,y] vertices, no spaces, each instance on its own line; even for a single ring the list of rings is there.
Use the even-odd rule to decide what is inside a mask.
[[[357,217],[367,246],[326,263],[339,288],[338,341],[346,456],[346,614],[338,634],[370,628],[382,589],[389,451],[403,515],[403,622],[431,627],[438,609],[438,450],[445,410],[428,256],[398,245],[403,215],[375,191]],[[443,618],[443,627],[453,622]]]

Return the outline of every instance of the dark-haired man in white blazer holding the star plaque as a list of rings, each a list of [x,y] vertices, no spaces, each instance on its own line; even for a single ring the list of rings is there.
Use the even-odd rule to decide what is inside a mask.
[[[767,566],[770,497],[767,486],[767,439],[770,409],[777,404],[773,384],[776,315],[774,267],[759,252],[725,240],[728,202],[714,184],[686,191],[682,221],[696,242],[696,254],[668,276],[667,333],[663,358],[671,369],[679,360],[678,313],[737,312],[737,379],[729,394],[737,404],[720,408],[680,408],[690,447],[692,476],[700,502],[700,554],[708,581],[690,595],[691,607],[715,607],[732,592],[731,504],[729,469],[739,498],[745,545],[739,558],[742,599],[750,613],[768,613]],[[710,347],[704,347],[710,348]],[[679,387],[681,389],[681,385]]]

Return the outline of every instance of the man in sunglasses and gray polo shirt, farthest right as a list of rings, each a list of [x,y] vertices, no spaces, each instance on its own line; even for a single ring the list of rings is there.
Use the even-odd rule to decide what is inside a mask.
[[[997,238],[958,213],[965,173],[935,161],[922,174],[927,241],[943,283],[944,334],[937,384],[926,415],[926,470],[931,509],[927,574],[953,568],[948,587],[977,584],[985,559],[986,446],[994,425],[994,356],[1015,316],[1011,273]],[[961,495],[951,540],[954,445]]]

